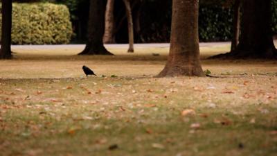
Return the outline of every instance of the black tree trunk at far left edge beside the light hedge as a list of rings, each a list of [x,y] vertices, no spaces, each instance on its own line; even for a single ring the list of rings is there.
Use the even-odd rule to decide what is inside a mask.
[[[0,59],[12,58],[10,50],[12,34],[12,0],[2,0],[2,28],[1,28]]]

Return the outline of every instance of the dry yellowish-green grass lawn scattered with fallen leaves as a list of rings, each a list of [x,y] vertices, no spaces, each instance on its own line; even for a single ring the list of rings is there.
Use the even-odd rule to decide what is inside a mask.
[[[0,60],[0,155],[276,156],[277,62],[204,59],[228,49],[201,48],[222,78],[153,78],[166,47],[13,49]]]

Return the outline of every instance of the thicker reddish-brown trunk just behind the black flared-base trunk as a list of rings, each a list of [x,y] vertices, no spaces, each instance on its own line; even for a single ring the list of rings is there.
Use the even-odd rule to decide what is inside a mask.
[[[114,38],[114,0],[107,0],[105,12],[104,43],[115,43]]]

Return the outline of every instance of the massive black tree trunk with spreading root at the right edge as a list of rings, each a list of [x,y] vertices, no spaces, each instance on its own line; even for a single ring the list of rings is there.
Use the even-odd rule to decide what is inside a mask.
[[[230,53],[211,58],[277,58],[271,32],[271,0],[244,0],[240,43]]]

